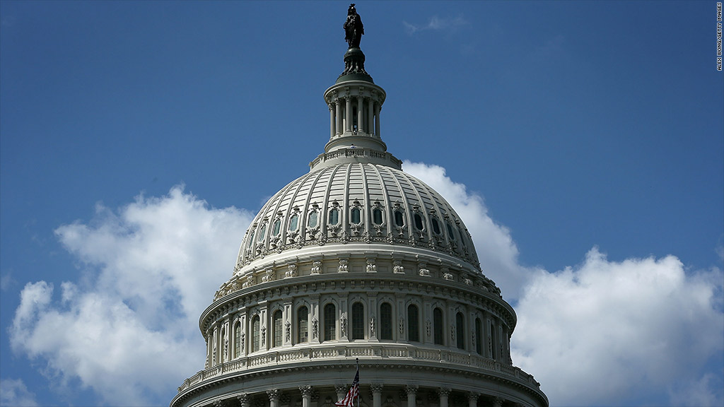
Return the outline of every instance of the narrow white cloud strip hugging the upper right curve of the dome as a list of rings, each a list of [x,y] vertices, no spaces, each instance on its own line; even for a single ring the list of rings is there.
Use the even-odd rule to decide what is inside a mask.
[[[450,180],[443,167],[405,161],[403,169],[445,197],[473,236],[483,273],[492,278],[506,298],[518,298],[523,283],[538,270],[518,264],[518,246],[510,230],[493,221],[483,198]]]

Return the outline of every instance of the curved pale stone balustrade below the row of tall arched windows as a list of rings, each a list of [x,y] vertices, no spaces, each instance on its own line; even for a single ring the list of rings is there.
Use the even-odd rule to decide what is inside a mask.
[[[407,360],[420,362],[437,362],[450,364],[450,366],[472,366],[492,374],[502,374],[517,379],[530,387],[539,389],[540,385],[530,374],[520,368],[501,364],[491,358],[485,358],[476,353],[450,351],[447,349],[412,348],[408,345],[395,345],[391,343],[373,345],[328,345],[306,348],[286,348],[279,351],[269,351],[259,355],[245,356],[227,361],[185,379],[178,387],[179,393],[197,385],[207,379],[213,379],[224,374],[244,372],[261,367],[270,367],[280,364],[293,364],[295,362],[329,361],[330,359],[363,358],[375,360]]]

